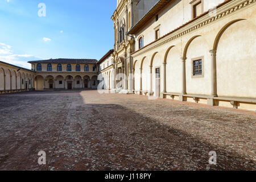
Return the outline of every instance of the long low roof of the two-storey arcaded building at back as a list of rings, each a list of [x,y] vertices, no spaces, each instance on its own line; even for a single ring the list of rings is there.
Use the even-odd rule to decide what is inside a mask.
[[[28,61],[28,63],[70,63],[70,64],[96,64],[96,59],[48,59],[38,61]]]

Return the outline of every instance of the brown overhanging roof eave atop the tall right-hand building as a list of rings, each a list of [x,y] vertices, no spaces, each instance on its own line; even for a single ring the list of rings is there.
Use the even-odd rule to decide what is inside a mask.
[[[159,13],[172,0],[159,0],[131,29],[127,34],[135,34],[140,30],[152,17]]]

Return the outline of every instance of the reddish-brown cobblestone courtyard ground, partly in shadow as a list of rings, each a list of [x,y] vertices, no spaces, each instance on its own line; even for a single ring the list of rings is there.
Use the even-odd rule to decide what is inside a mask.
[[[0,170],[255,170],[255,123],[254,112],[146,96],[9,94],[0,96]]]

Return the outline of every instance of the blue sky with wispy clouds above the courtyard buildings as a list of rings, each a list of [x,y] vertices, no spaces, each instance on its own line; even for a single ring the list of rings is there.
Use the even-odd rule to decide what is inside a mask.
[[[0,61],[30,68],[38,59],[99,60],[113,48],[115,7],[115,0],[0,0]]]

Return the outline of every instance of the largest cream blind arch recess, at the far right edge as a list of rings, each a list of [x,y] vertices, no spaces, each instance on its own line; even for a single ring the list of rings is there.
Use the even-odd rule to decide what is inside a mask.
[[[213,44],[218,96],[255,98],[255,35],[256,26],[247,19],[233,20],[218,32]]]

